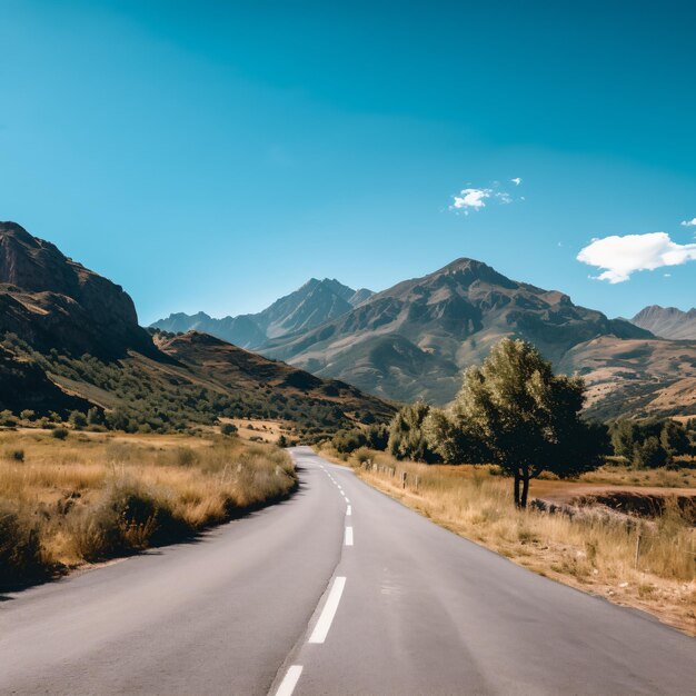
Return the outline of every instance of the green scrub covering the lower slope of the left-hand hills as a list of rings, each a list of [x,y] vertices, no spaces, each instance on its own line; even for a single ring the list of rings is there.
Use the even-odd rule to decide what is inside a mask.
[[[99,405],[86,405],[82,411],[39,412],[39,418],[64,420],[74,429],[186,432],[191,426],[211,426],[223,418],[260,418],[292,422],[297,436],[311,444],[355,422],[339,402],[309,398],[301,390],[286,392],[260,384],[231,388],[175,364],[158,365],[140,356],[105,361],[54,349],[44,355],[12,334],[4,336],[0,347],[17,361],[38,366],[69,390]],[[357,416],[370,420],[366,414]],[[11,411],[0,412],[0,426],[17,421]]]

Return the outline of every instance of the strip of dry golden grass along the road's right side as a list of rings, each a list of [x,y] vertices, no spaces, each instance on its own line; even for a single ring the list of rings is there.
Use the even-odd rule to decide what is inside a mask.
[[[371,461],[352,460],[360,478],[432,521],[540,575],[644,609],[696,635],[696,534],[676,506],[657,521],[632,524],[591,513],[570,518],[518,511],[510,480],[491,475],[490,467],[397,463],[384,453],[374,453]]]

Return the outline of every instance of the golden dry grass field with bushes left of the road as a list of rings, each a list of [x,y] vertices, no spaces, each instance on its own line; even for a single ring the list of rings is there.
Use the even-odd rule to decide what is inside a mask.
[[[212,432],[0,431],[0,589],[191,537],[296,480],[284,450]]]

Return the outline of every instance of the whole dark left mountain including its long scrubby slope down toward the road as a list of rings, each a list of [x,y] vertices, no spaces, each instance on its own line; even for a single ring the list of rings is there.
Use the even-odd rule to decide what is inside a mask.
[[[206,334],[147,331],[120,286],[12,222],[0,223],[0,410],[96,407],[111,427],[162,431],[277,418],[308,437],[394,412],[355,387]]]

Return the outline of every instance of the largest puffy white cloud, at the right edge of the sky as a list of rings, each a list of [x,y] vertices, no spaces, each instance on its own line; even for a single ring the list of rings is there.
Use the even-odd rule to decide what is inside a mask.
[[[597,280],[624,282],[638,270],[655,270],[664,266],[680,266],[696,260],[696,243],[679,245],[667,232],[612,236],[593,239],[580,250],[578,261],[605,269]]]

